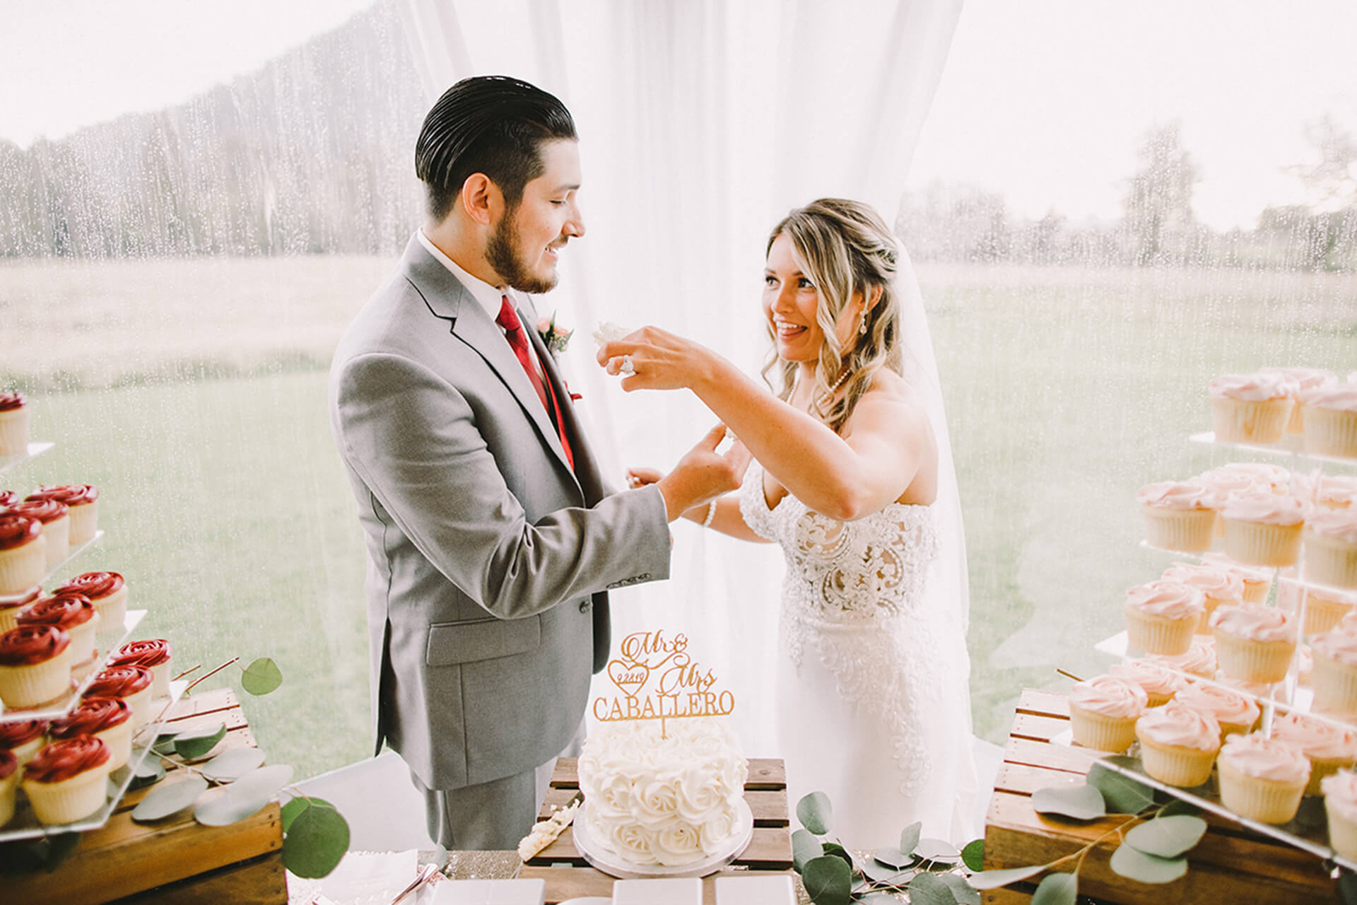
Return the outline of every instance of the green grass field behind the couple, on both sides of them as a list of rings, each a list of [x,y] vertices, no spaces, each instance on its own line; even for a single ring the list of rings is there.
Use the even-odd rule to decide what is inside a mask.
[[[0,387],[33,392],[34,436],[58,444],[0,486],[103,487],[107,536],[69,571],[133,578],[176,663],[277,659],[284,687],[246,708],[301,776],[370,753],[364,552],[324,366],[389,265],[0,265]],[[1022,687],[1102,668],[1091,646],[1120,627],[1121,592],[1167,564],[1136,547],[1132,497],[1227,460],[1186,441],[1208,425],[1206,381],[1357,369],[1357,278],[925,266],[920,281],[966,518],[976,729],[997,739]]]

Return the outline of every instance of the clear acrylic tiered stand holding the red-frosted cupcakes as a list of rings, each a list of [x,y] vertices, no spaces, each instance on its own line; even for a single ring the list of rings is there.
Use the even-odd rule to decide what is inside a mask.
[[[19,456],[7,456],[0,459],[0,474],[7,469],[19,465],[20,463],[28,461],[30,459],[39,456],[49,449],[53,444],[50,442],[33,442],[28,444],[28,453]],[[66,558],[57,563],[54,567],[47,570],[47,574],[42,577],[41,583],[46,583],[57,570],[64,569],[71,560],[83,554],[91,545],[99,543],[103,537],[103,531],[95,532],[95,536],[77,545],[72,547]],[[11,598],[12,600],[12,598]],[[95,676],[99,674],[102,669],[109,665],[109,659],[113,654],[128,640],[141,620],[145,619],[147,611],[144,609],[129,609],[128,615],[123,617],[121,625],[103,625],[96,634],[96,647],[94,655],[94,663],[90,663],[87,672],[84,672],[79,681],[75,682],[71,691],[61,699],[57,699],[42,707],[31,707],[27,710],[5,710],[0,712],[0,723],[14,723],[24,722],[30,719],[58,719],[71,712],[77,703],[80,703],[80,696],[84,689],[94,681]],[[156,741],[157,727],[163,720],[164,715],[170,711],[170,706],[174,704],[183,695],[185,689],[189,687],[186,681],[170,682],[170,696],[156,697],[151,701],[151,722],[137,730],[136,737],[132,742],[132,757],[128,763],[109,775],[109,799],[104,806],[95,813],[84,817],[73,824],[61,825],[46,825],[39,824],[38,818],[34,815],[33,809],[28,806],[27,799],[20,795],[18,806],[15,807],[14,818],[0,828],[0,843],[7,843],[18,839],[35,839],[39,836],[52,836],[56,833],[69,833],[80,832],[87,829],[98,829],[103,826],[109,815],[113,813],[114,807],[126,794],[128,787],[132,784],[133,777],[141,768],[142,761],[145,761],[147,754],[151,752],[151,746]]]

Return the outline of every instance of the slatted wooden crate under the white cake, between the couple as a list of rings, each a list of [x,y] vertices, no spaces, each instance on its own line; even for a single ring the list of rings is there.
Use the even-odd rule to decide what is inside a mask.
[[[579,773],[574,757],[556,761],[551,790],[543,802],[539,820],[551,815],[554,806],[570,802],[579,791]],[[754,836],[734,864],[706,878],[704,901],[716,901],[716,877],[748,877],[749,871],[791,870],[791,829],[787,810],[787,773],[780,760],[749,761],[745,780],[745,801],[754,814]],[[613,878],[589,867],[575,851],[573,826],[567,826],[556,841],[524,864],[518,877],[541,878],[547,882],[547,902],[562,902],[582,896],[612,896]]]

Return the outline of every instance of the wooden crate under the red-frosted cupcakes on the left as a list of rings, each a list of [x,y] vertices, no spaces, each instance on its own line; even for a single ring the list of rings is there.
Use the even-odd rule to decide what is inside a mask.
[[[214,753],[255,745],[229,688],[180,700],[168,716],[170,727],[178,730],[216,722],[225,722],[227,737]],[[170,768],[160,783],[176,782],[176,772],[185,771]],[[0,898],[26,905],[288,901],[277,802],[231,826],[202,826],[191,810],[156,824],[134,824],[132,809],[157,786],[128,792],[109,822],[83,833],[75,853],[54,872],[0,879]]]

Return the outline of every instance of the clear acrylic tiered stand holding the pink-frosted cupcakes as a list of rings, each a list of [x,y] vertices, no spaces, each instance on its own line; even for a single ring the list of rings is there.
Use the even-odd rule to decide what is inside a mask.
[[[1348,468],[1357,468],[1357,459],[1341,459],[1337,456],[1316,456],[1312,453],[1303,452],[1300,449],[1299,434],[1285,434],[1280,442],[1273,445],[1235,444],[1235,442],[1217,441],[1216,436],[1209,431],[1201,434],[1193,434],[1190,440],[1191,442],[1197,444],[1210,444],[1216,446],[1242,449],[1250,453],[1285,456],[1291,460],[1289,467],[1292,475],[1301,474],[1300,472],[1301,467],[1314,463],[1315,471],[1311,472],[1311,478],[1315,482],[1316,487],[1320,479],[1323,478],[1323,471],[1326,464],[1338,464],[1338,465],[1346,465]],[[1140,545],[1148,550],[1163,550],[1159,547],[1151,547],[1145,541],[1140,541]],[[1200,554],[1187,554],[1177,550],[1163,550],[1163,552],[1179,558],[1201,559]],[[1304,573],[1304,552],[1301,552],[1300,558],[1296,560],[1295,577],[1282,575],[1281,574],[1282,569],[1269,569],[1262,566],[1247,566],[1247,564],[1239,564],[1239,567],[1246,570],[1253,569],[1257,570],[1258,574],[1261,575],[1266,574],[1272,577],[1272,588],[1269,590],[1269,601],[1267,601],[1269,605],[1277,605],[1277,597],[1284,586],[1291,589],[1292,593],[1295,593],[1296,596],[1295,615],[1296,615],[1297,632],[1301,632],[1305,624],[1307,590],[1320,590],[1320,592],[1357,596],[1357,588],[1331,588],[1327,585],[1307,582]],[[1299,638],[1299,642],[1304,642],[1304,638]],[[1129,650],[1129,643],[1125,631],[1118,632],[1117,635],[1113,635],[1111,638],[1107,638],[1106,640],[1095,644],[1095,649],[1099,650],[1101,653],[1110,654],[1117,659],[1121,659],[1122,657],[1126,655],[1134,657],[1141,653],[1136,650]],[[1235,685],[1228,685],[1228,688],[1242,695],[1253,695],[1253,697],[1258,701],[1262,710],[1262,726],[1265,731],[1272,730],[1272,720],[1278,710],[1305,712],[1307,715],[1311,715],[1315,719],[1322,719],[1324,722],[1334,723],[1345,730],[1357,731],[1357,726],[1354,726],[1353,723],[1348,723],[1335,719],[1333,716],[1326,716],[1324,714],[1310,714],[1311,692],[1308,688],[1303,688],[1299,682],[1299,672],[1297,672],[1300,661],[1299,651],[1300,649],[1297,643],[1297,651],[1296,654],[1292,655],[1291,670],[1286,673],[1286,678],[1273,685],[1267,695],[1253,693]],[[1172,665],[1170,663],[1166,663],[1166,666],[1170,666],[1170,669],[1172,669]],[[1190,676],[1187,673],[1183,674],[1191,678],[1193,681],[1198,682],[1213,681],[1210,678],[1202,678],[1200,676]],[[1052,742],[1057,745],[1072,745],[1073,739],[1069,730],[1064,730],[1058,735],[1053,737]],[[1136,752],[1137,748],[1139,744],[1133,745],[1132,752]],[[1209,811],[1229,818],[1257,833],[1286,843],[1288,845],[1293,845],[1295,848],[1316,855],[1334,864],[1346,867],[1348,870],[1357,871],[1357,863],[1338,856],[1337,853],[1334,853],[1334,849],[1329,847],[1329,828],[1326,822],[1324,802],[1322,796],[1303,798],[1300,803],[1300,810],[1297,811],[1295,820],[1292,820],[1289,824],[1274,826],[1272,824],[1261,824],[1254,820],[1239,817],[1232,810],[1221,805],[1215,772],[1212,772],[1210,780],[1208,780],[1206,784],[1204,786],[1198,786],[1196,788],[1178,788],[1177,786],[1168,786],[1148,776],[1144,768],[1141,767],[1140,757],[1136,757],[1134,754],[1129,756],[1110,754],[1102,757],[1098,763],[1110,771],[1114,771],[1139,783],[1159,790],[1160,792],[1185,801],[1196,807],[1200,807],[1204,811]]]

